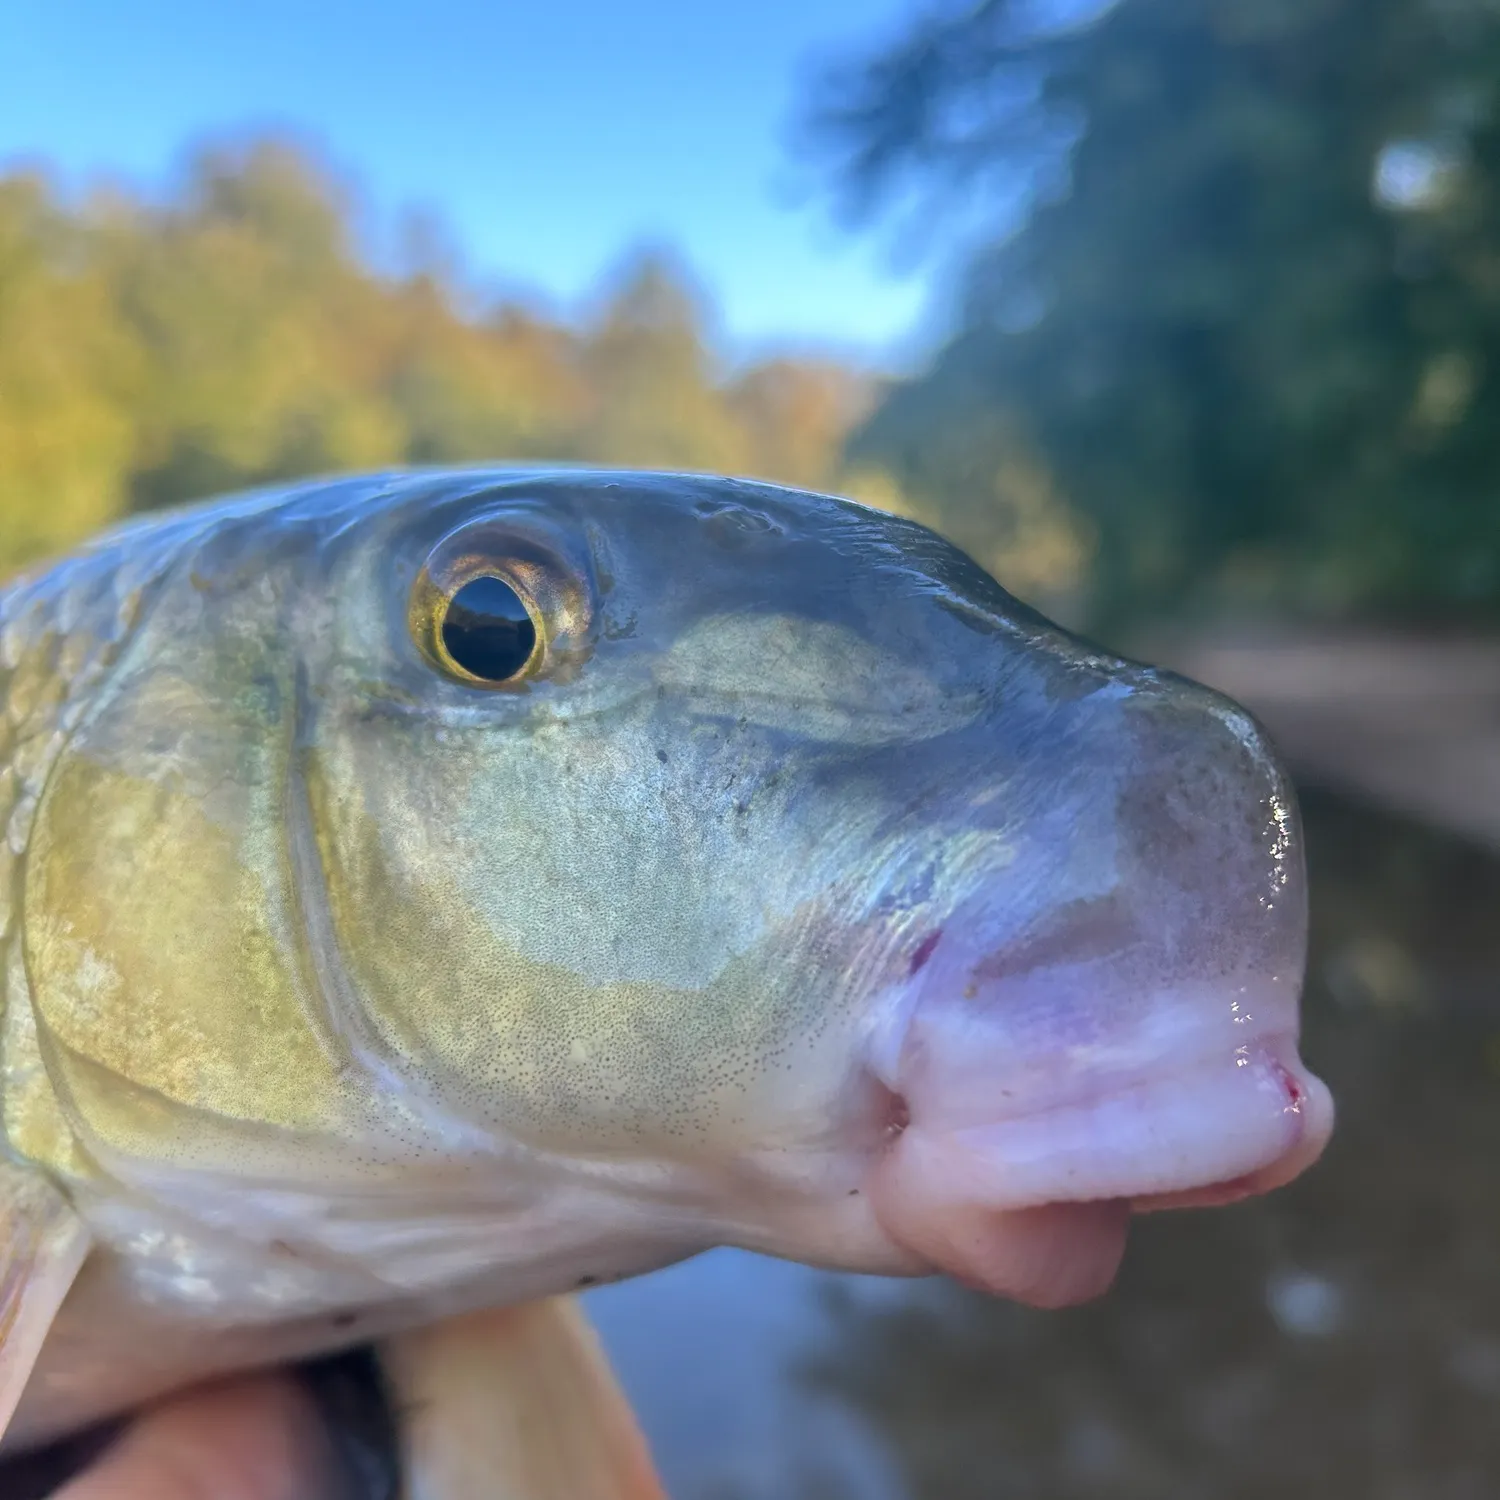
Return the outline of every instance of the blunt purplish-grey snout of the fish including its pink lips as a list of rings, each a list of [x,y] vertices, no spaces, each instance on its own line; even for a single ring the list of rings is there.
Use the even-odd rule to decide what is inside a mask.
[[[1152,680],[1119,714],[1088,796],[920,938],[872,1050],[896,1122],[870,1185],[882,1227],[1038,1305],[1106,1290],[1132,1212],[1281,1186],[1334,1124],[1298,1050],[1286,774],[1191,684]]]

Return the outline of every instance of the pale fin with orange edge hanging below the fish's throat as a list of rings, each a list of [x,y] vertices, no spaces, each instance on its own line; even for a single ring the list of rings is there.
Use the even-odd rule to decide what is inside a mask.
[[[666,1500],[634,1413],[573,1298],[390,1340],[402,1500]]]

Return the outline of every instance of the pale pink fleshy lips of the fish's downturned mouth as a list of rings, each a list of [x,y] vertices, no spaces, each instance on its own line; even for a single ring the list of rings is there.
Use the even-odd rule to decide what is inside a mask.
[[[1034,1306],[1108,1290],[1132,1214],[1280,1188],[1334,1126],[1292,1032],[1054,1107],[987,1119],[972,1107],[945,1119],[932,1100],[906,1108],[872,1176],[882,1228],[933,1269]]]

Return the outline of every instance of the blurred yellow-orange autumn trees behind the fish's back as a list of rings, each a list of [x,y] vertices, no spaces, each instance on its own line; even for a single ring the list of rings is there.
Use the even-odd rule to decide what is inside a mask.
[[[380,273],[356,224],[352,195],[276,141],[200,150],[162,201],[0,177],[0,573],[132,508],[370,465],[838,483],[873,378],[726,369],[669,256],[627,260],[564,322],[476,297],[441,258]]]

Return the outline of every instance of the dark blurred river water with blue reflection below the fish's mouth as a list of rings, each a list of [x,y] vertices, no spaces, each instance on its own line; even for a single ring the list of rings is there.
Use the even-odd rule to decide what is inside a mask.
[[[674,1500],[1500,1492],[1500,861],[1305,813],[1324,1162],[1068,1312],[730,1252],[592,1294]]]

